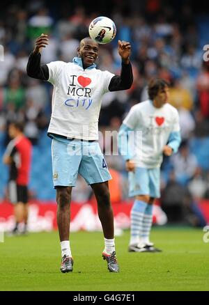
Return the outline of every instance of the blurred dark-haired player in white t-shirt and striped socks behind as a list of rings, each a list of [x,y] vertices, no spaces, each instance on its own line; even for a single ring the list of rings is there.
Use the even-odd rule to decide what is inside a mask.
[[[153,79],[148,95],[149,100],[130,109],[118,139],[129,172],[129,194],[135,198],[128,248],[134,252],[160,251],[149,240],[153,203],[160,197],[160,165],[163,154],[171,156],[180,145],[178,111],[167,103],[169,85],[164,79]]]

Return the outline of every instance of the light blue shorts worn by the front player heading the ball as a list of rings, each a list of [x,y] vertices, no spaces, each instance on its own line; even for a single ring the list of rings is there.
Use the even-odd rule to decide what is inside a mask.
[[[75,187],[78,173],[88,185],[111,180],[98,142],[52,140],[54,187]]]

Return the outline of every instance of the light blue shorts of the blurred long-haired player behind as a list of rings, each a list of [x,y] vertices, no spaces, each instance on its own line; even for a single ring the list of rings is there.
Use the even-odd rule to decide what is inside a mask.
[[[160,198],[160,168],[146,169],[136,167],[134,173],[128,173],[129,196],[149,195]]]

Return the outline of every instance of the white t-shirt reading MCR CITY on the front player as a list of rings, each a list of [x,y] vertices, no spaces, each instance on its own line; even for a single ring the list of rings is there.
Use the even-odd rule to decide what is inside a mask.
[[[114,74],[96,68],[84,70],[75,63],[47,64],[54,85],[48,132],[69,138],[97,140],[102,95]]]

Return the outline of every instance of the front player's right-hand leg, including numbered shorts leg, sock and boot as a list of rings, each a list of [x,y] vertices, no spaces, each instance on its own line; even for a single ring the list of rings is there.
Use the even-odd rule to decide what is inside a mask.
[[[97,142],[83,143],[82,162],[79,173],[91,185],[98,202],[98,215],[104,233],[104,252],[110,272],[118,272],[114,241],[114,215],[111,208],[108,180],[111,175]]]

